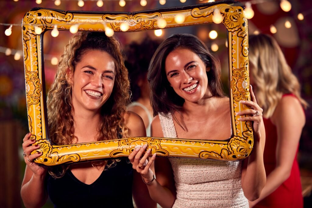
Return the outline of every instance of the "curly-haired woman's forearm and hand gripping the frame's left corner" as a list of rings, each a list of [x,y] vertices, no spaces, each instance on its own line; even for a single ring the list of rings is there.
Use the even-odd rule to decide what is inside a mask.
[[[24,137],[23,150],[29,155],[39,146],[30,146],[35,141],[30,140],[31,134],[27,134]],[[42,207],[46,203],[47,191],[44,184],[47,170],[44,167],[38,166],[32,162],[35,158],[41,156],[40,154],[34,154],[30,156],[24,156],[25,163],[27,164],[25,169],[25,175],[22,182],[21,196],[25,207]],[[30,161],[28,161],[28,159]]]

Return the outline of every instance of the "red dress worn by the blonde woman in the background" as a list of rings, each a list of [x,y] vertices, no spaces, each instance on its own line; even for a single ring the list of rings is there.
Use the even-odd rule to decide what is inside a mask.
[[[286,94],[284,96],[294,96]],[[283,96],[283,97],[284,97]],[[295,96],[294,96],[295,97]],[[277,142],[276,126],[270,119],[263,118],[264,126],[266,128],[266,145],[264,149],[264,166],[266,169],[266,176],[268,176],[275,168],[275,151]],[[289,178],[284,181],[274,192],[264,198],[254,207],[274,207],[274,208],[302,208],[303,198],[301,194],[300,171],[297,162],[297,152],[291,168]]]

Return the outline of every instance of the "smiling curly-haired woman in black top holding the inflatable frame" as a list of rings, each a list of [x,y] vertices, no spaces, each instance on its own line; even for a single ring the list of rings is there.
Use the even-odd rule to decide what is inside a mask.
[[[142,119],[126,110],[128,102],[128,72],[118,41],[99,32],[78,32],[65,47],[47,96],[51,142],[145,136]],[[132,191],[137,206],[146,205],[146,186],[136,181],[139,174],[125,159],[54,167],[47,174],[46,167],[33,162],[41,153],[30,155],[39,148],[32,146],[30,136],[22,145],[27,166],[21,195],[26,207],[44,205],[47,196],[55,207],[133,207]]]

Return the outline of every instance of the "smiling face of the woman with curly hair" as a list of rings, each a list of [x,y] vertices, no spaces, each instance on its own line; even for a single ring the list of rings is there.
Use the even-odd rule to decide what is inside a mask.
[[[115,81],[115,64],[107,52],[87,50],[70,76],[76,112],[98,111],[108,100]]]

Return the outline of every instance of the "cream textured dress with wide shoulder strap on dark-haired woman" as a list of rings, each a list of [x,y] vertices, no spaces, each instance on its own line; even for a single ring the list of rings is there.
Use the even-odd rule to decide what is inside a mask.
[[[163,136],[177,138],[171,114],[159,114]],[[177,199],[173,208],[246,207],[248,200],[241,188],[241,161],[208,161],[169,158]]]

